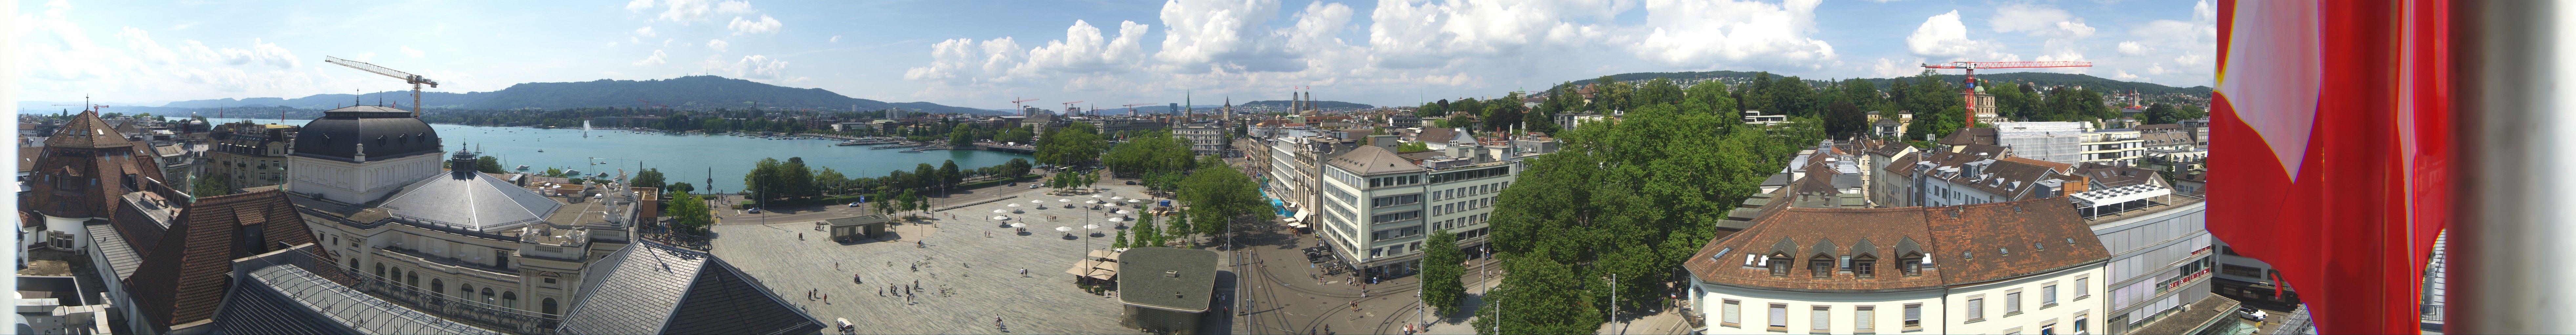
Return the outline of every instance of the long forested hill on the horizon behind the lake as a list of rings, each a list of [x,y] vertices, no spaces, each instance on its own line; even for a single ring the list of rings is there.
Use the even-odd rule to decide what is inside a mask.
[[[412,103],[410,90],[386,90],[355,95],[361,103]],[[165,108],[216,108],[216,106],[286,106],[286,108],[337,108],[350,106],[353,95],[307,95],[307,98],[222,98],[222,100],[178,100]],[[644,103],[652,100],[652,103]],[[868,98],[850,98],[822,88],[783,88],[752,80],[690,75],[672,80],[590,80],[590,82],[520,82],[492,93],[422,93],[420,103],[428,108],[644,108],[644,106],[670,106],[670,108],[750,108],[783,106],[783,108],[832,108],[848,111],[858,106],[860,111],[878,108],[907,108],[907,111],[933,111],[933,113],[999,113],[981,108],[958,108],[940,103],[886,103]]]

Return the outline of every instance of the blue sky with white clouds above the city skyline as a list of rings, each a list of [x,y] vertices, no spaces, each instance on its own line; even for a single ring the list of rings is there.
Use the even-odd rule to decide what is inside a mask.
[[[871,100],[1010,108],[1185,95],[1412,106],[1618,72],[1896,77],[1924,62],[2094,62],[2210,85],[2210,0],[554,0],[15,5],[18,100],[160,106],[721,75]],[[2002,70],[1989,70],[2002,72]]]

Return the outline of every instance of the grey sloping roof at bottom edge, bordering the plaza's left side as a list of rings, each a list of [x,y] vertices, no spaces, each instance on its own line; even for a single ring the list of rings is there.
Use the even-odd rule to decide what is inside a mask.
[[[708,253],[636,240],[592,263],[590,291],[564,312],[572,335],[786,335],[822,320]]]

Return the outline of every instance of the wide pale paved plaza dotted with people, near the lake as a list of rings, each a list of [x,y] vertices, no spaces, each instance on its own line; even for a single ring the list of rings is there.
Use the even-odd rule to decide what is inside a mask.
[[[1141,186],[1105,188],[1110,191],[1100,198],[1144,196]],[[848,317],[858,332],[1141,332],[1118,325],[1121,302],[1115,296],[1087,294],[1064,273],[1084,258],[1084,250],[1108,250],[1126,222],[1108,222],[1105,211],[1087,206],[1064,209],[1064,204],[1082,206],[1090,196],[1048,196],[1046,188],[1018,188],[1010,196],[1018,198],[935,211],[927,216],[938,219],[896,224],[891,227],[894,237],[881,242],[829,242],[827,232],[814,229],[811,222],[726,222],[714,227],[714,253],[824,322]],[[1036,209],[1030,201],[1046,201],[1046,209]],[[1010,219],[992,219],[994,209]],[[1084,216],[1100,224],[1092,229],[1097,235],[1087,240],[1090,245],[1082,237]],[[1025,235],[1002,227],[1023,219],[1028,222]],[[1074,237],[1056,232],[1056,227],[1072,227]],[[1020,268],[1028,268],[1025,278]],[[853,283],[850,276],[863,283]],[[1221,278],[1231,278],[1231,273],[1221,273]],[[904,296],[878,296],[886,286],[912,286],[914,281],[920,281],[920,291],[912,294],[909,304]],[[1231,283],[1221,281],[1218,286]],[[804,299],[806,291],[832,299],[829,304]],[[994,317],[1002,317],[1005,327],[994,327]],[[1206,330],[1231,332],[1224,327],[1226,322],[1211,312]]]

